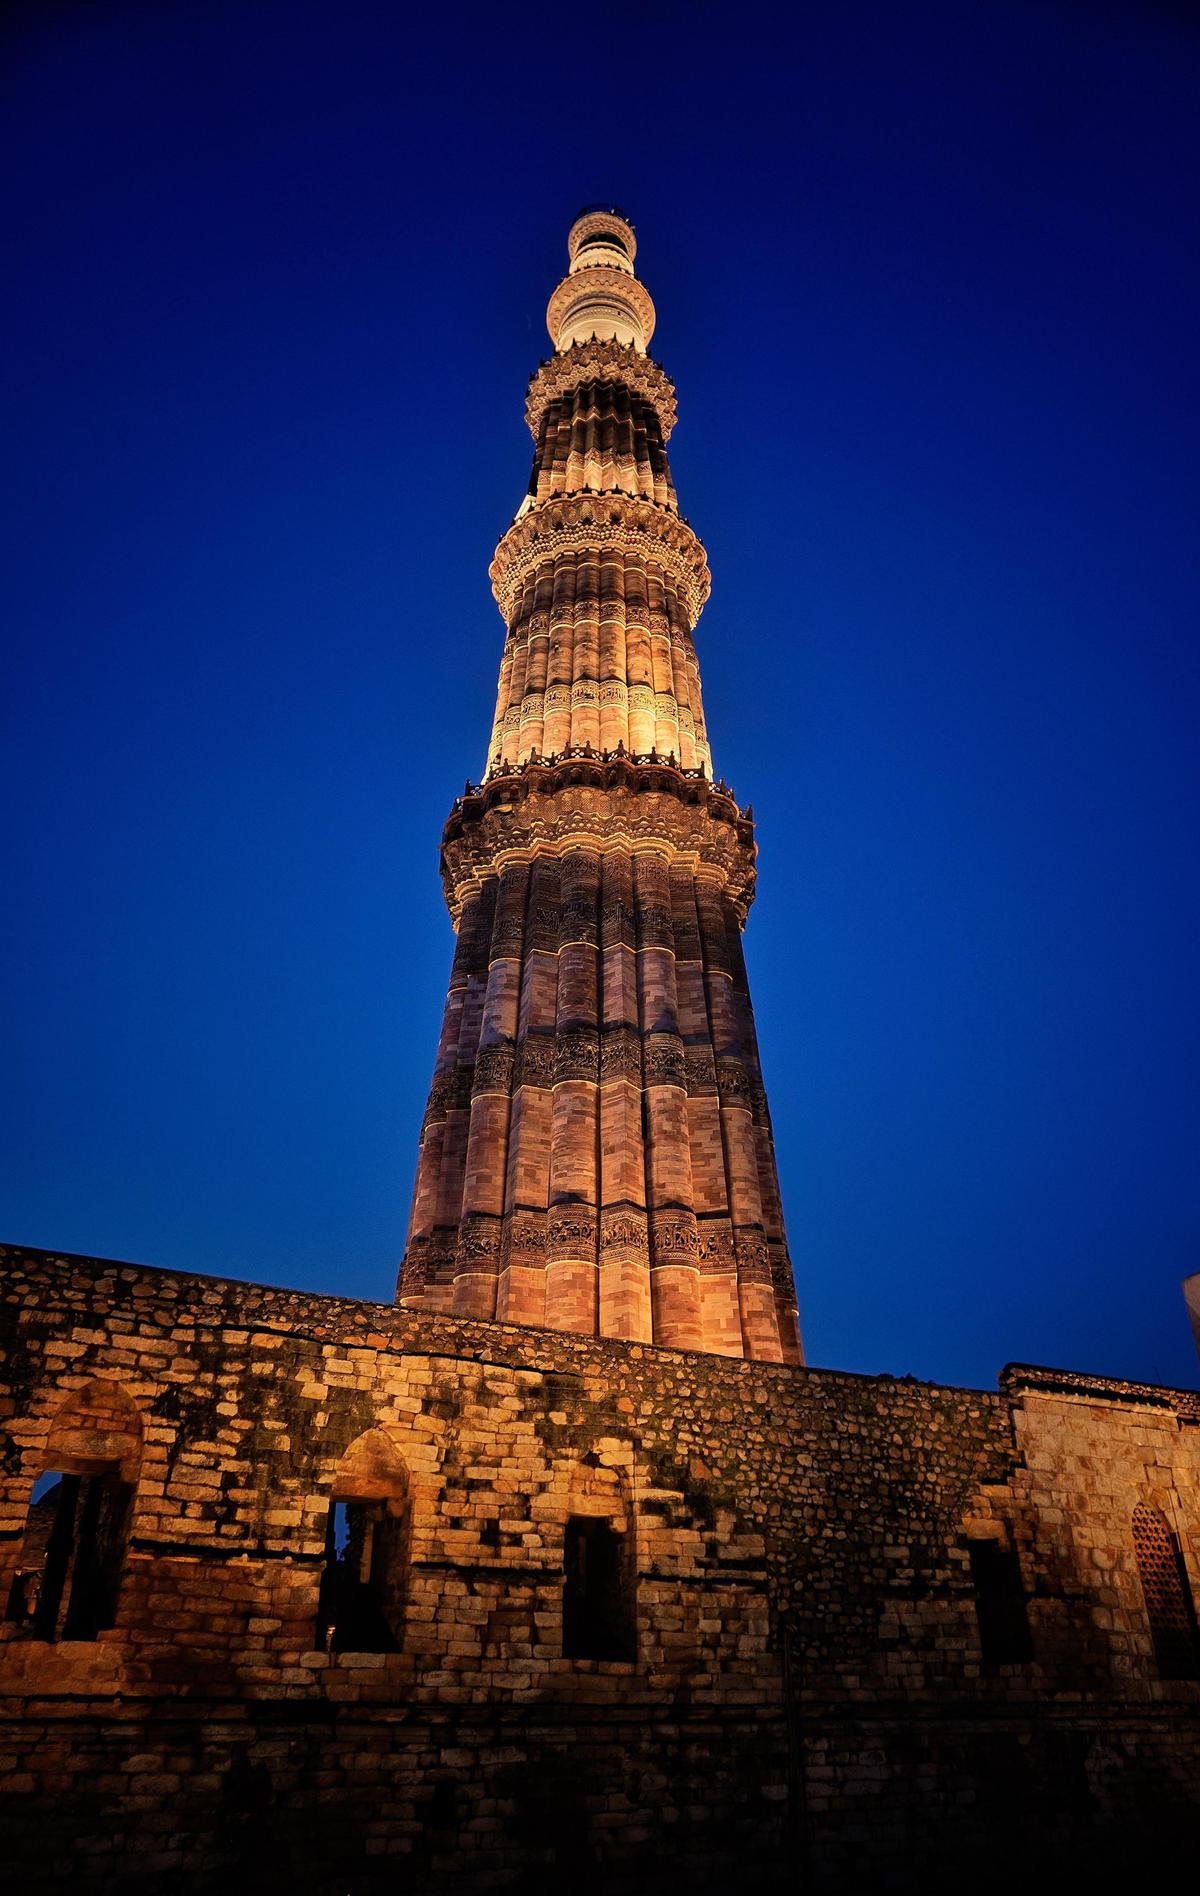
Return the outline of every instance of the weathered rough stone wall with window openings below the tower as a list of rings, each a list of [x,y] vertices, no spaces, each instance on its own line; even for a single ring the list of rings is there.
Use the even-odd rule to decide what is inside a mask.
[[[0,1600],[44,1469],[133,1496],[114,1625],[0,1631],[23,1887],[978,1885],[1194,1822],[1200,1684],[1162,1676],[1132,1515],[1200,1593],[1196,1395],[2,1261]],[[330,1504],[387,1494],[398,1650],[326,1650]],[[633,1657],[563,1655],[580,1519],[622,1538]],[[980,1545],[1029,1657],[980,1644]]]

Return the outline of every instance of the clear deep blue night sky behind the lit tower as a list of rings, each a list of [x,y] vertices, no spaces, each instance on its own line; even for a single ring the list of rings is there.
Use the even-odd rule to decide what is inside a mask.
[[[487,561],[607,197],[809,1358],[1198,1380],[1187,19],[9,15],[4,1236],[391,1299]]]

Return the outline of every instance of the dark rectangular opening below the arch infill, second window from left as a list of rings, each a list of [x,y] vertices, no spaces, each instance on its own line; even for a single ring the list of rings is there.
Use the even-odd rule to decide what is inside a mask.
[[[317,1646],[332,1653],[400,1651],[404,1519],[387,1502],[332,1502],[317,1608]]]

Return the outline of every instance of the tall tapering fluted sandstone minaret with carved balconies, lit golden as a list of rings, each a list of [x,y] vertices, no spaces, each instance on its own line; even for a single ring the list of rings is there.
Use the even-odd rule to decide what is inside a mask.
[[[571,226],[529,383],[529,493],[478,789],[442,836],[459,935],[406,1304],[798,1363],[741,929],[755,827],[713,781],[675,389],[616,210]]]

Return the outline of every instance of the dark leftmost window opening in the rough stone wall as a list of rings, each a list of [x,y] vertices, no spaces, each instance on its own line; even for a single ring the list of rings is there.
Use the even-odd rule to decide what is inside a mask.
[[[34,1640],[95,1640],[112,1627],[131,1502],[116,1469],[40,1475],[6,1617]]]

